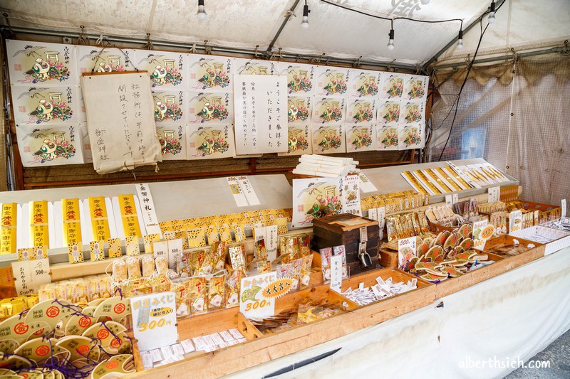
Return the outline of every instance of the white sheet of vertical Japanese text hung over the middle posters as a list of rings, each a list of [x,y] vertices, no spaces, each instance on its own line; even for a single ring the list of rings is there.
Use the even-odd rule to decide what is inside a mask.
[[[286,75],[234,75],[237,154],[285,153]]]

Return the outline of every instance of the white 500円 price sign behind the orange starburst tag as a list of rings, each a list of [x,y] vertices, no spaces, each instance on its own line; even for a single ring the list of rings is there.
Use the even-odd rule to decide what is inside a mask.
[[[239,291],[239,311],[248,319],[274,316],[275,299],[264,297],[264,289],[277,279],[277,272],[244,277]]]

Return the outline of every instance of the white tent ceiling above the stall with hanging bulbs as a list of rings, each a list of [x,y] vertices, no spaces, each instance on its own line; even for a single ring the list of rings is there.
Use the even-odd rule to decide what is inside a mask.
[[[490,0],[333,0],[337,4],[387,17],[410,16],[425,20],[461,18],[466,27],[489,6]],[[295,0],[205,0],[208,17],[198,21],[196,0],[0,0],[11,26],[80,31],[91,34],[145,38],[182,43],[266,50]],[[500,3],[500,1],[497,1]],[[422,64],[457,37],[460,23],[394,21],[395,49],[386,48],[390,21],[309,0],[311,27],[300,26],[304,2],[277,38],[274,48],[286,53],[338,58]],[[497,23],[487,33],[484,48],[512,43],[564,39],[570,34],[568,0],[507,0],[497,12]],[[486,23],[486,21],[485,21]],[[478,27],[466,33],[466,48],[475,50]],[[509,39],[510,38],[510,39]],[[453,48],[447,55],[453,55]]]

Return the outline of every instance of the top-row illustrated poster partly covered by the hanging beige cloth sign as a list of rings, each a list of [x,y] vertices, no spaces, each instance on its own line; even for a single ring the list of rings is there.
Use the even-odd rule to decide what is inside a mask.
[[[122,51],[121,51],[122,50]],[[131,59],[135,50],[102,48],[100,46],[76,46],[77,68],[83,73],[120,73],[135,71]]]

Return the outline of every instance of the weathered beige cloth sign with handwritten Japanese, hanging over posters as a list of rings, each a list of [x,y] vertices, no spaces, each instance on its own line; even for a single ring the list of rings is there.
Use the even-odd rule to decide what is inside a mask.
[[[98,174],[162,161],[150,78],[145,72],[81,77],[87,128]]]

